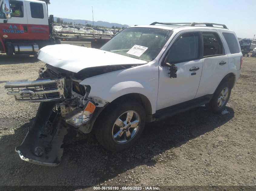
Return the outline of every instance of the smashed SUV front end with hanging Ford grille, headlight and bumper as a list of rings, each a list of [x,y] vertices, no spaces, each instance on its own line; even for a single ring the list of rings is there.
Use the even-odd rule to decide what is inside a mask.
[[[96,108],[98,103],[88,98],[90,87],[80,82],[73,72],[47,65],[46,69],[39,70],[35,81],[17,80],[5,84],[7,94],[16,101],[41,102],[24,141],[15,149],[22,160],[57,166],[69,125],[80,132],[91,132],[102,108]]]

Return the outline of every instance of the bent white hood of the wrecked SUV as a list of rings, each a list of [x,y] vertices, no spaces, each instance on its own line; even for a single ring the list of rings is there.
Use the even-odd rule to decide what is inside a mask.
[[[105,50],[70,44],[45,46],[39,50],[38,59],[54,67],[76,73],[82,69],[97,66],[147,63],[144,60],[130,58]]]

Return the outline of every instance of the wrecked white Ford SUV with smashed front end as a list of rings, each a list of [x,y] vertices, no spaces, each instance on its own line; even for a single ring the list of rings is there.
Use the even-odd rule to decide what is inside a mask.
[[[221,111],[242,65],[235,33],[213,23],[128,27],[101,49],[50,45],[38,59],[47,68],[36,81],[5,88],[18,101],[42,102],[16,151],[51,166],[60,163],[65,123],[84,133],[94,129],[105,148],[119,151],[139,138],[146,122],[202,104]]]

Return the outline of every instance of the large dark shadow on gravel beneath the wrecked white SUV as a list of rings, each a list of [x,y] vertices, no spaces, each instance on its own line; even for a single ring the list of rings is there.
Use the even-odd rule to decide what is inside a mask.
[[[234,117],[232,108],[225,109],[229,113],[222,115],[213,114],[205,107],[198,107],[160,122],[146,124],[138,142],[131,148],[117,153],[106,151],[92,134],[79,134],[80,136],[77,137],[77,133],[70,130],[64,139],[64,153],[58,167],[30,164],[20,160],[15,153],[15,144],[19,145],[22,142],[27,127],[32,124],[31,120],[30,123],[16,129],[14,134],[3,136],[0,142],[1,147],[5,147],[4,150],[0,149],[1,155],[8,156],[8,158],[1,157],[0,163],[2,170],[6,172],[6,180],[10,180],[0,185],[58,185],[86,188],[100,183],[105,184],[105,181],[108,183],[109,179],[114,179],[127,170],[141,168],[141,165],[146,165],[143,166],[145,169],[156,164],[157,161],[160,162],[160,154],[164,152],[168,161],[175,160],[177,156],[172,148],[213,131]],[[166,163],[166,161],[161,162]],[[119,179],[123,184],[124,175],[118,177]],[[128,178],[127,180],[130,181]]]

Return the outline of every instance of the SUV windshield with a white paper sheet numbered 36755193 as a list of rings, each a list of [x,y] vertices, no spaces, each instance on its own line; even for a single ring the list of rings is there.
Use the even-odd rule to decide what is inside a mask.
[[[156,28],[126,28],[101,47],[101,50],[151,61],[165,45],[172,31]]]

